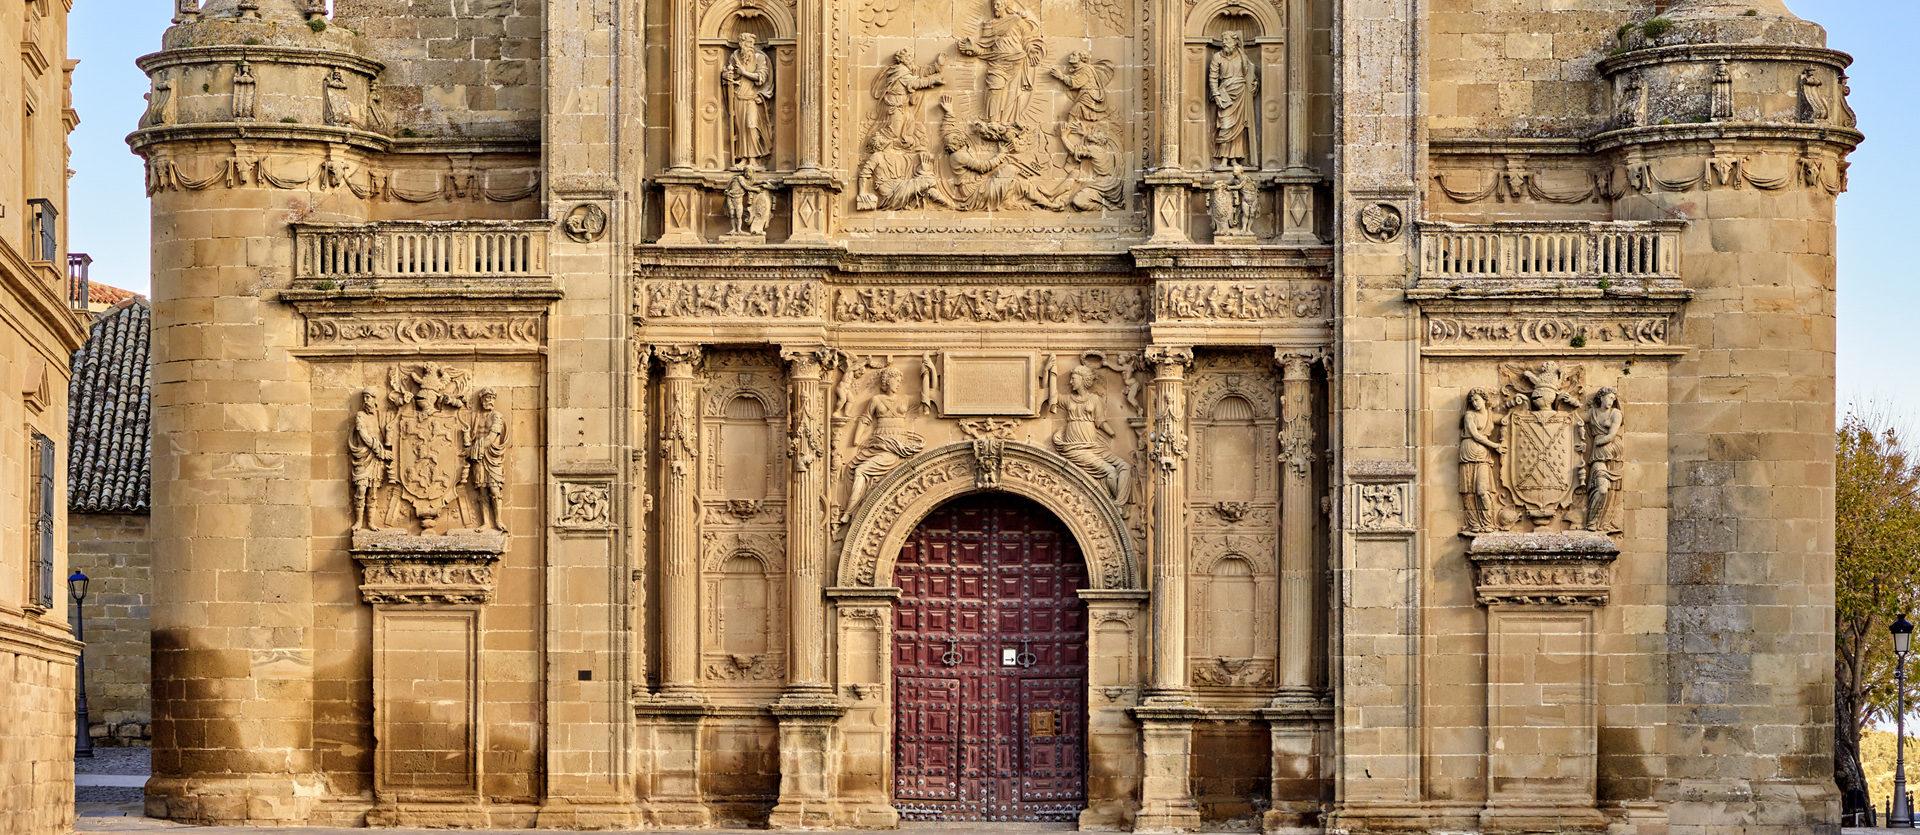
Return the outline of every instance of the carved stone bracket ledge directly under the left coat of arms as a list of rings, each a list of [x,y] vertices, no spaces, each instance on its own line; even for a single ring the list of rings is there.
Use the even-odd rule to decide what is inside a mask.
[[[367,603],[492,603],[503,534],[413,536],[353,532]]]

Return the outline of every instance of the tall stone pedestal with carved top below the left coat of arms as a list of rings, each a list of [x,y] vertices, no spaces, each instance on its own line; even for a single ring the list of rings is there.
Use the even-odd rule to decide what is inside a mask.
[[[353,532],[372,603],[369,825],[484,827],[480,633],[505,534]]]

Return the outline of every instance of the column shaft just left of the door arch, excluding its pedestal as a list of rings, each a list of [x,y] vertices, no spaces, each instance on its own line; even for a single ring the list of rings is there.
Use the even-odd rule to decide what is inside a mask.
[[[829,357],[826,347],[785,349],[787,382],[793,403],[791,426],[791,488],[787,489],[787,699],[831,699],[826,655],[826,386],[820,370]]]

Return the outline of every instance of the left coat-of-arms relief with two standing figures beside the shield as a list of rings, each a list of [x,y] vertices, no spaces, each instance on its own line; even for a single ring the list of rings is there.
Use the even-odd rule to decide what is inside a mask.
[[[388,369],[378,390],[359,394],[348,453],[353,465],[353,530],[426,536],[505,534],[501,499],[511,447],[493,390],[440,363]]]

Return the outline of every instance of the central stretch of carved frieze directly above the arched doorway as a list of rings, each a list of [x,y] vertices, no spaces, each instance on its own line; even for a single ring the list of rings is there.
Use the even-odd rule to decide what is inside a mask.
[[[885,286],[833,292],[837,322],[1112,324],[1146,319],[1139,288]]]

